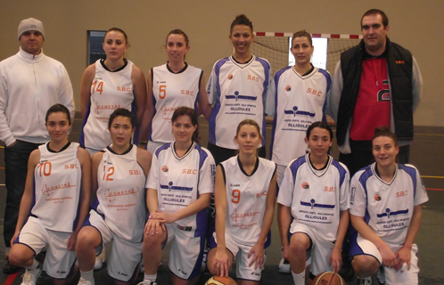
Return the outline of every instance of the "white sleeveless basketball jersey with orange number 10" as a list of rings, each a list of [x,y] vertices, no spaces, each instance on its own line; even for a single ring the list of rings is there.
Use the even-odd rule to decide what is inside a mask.
[[[78,143],[59,152],[48,150],[48,143],[38,147],[40,161],[34,170],[34,204],[31,216],[55,232],[73,232],[78,223],[78,200],[82,169],[77,158]]]

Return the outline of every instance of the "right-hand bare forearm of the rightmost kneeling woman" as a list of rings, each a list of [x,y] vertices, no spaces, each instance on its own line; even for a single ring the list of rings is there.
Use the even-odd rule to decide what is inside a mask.
[[[421,224],[421,216],[423,215],[423,206],[416,205],[413,208],[413,215],[408,226],[406,240],[404,240],[404,244],[402,248],[396,252],[396,257],[398,258],[398,264],[395,267],[396,271],[398,271],[403,264],[407,264],[407,269],[410,270],[410,258],[412,253],[413,242],[415,241],[416,234],[419,231],[419,225]]]

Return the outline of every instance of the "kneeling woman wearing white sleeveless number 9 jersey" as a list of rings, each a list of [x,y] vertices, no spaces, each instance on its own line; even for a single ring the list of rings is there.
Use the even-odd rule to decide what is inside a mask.
[[[208,265],[213,275],[228,276],[237,256],[240,285],[259,284],[275,210],[275,163],[258,158],[261,140],[258,123],[244,119],[234,137],[239,155],[216,170],[216,232],[210,240]]]

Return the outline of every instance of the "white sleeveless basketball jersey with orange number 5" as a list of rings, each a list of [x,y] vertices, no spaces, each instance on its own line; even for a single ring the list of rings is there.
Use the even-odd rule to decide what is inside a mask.
[[[171,117],[177,108],[183,106],[197,111],[202,74],[201,69],[188,64],[177,73],[171,71],[168,64],[152,69],[152,102],[155,113],[152,118],[150,141],[174,142]]]

